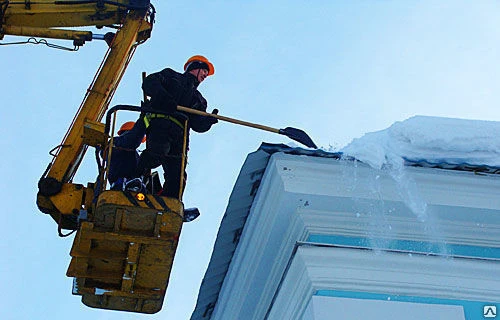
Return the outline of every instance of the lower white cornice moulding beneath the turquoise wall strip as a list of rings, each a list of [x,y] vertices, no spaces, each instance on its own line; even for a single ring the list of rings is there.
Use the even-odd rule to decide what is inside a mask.
[[[316,290],[500,301],[500,268],[492,261],[303,246],[267,319],[301,319]]]

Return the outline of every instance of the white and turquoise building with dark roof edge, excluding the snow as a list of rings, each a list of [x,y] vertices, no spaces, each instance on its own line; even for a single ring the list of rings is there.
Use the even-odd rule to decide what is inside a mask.
[[[500,318],[499,173],[264,144],[191,319]]]

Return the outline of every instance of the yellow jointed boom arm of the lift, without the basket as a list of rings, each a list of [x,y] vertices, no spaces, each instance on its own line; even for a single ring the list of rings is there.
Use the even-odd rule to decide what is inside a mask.
[[[38,184],[38,207],[63,229],[77,229],[76,215],[91,205],[91,185],[73,184],[73,176],[87,146],[106,140],[100,120],[136,46],[150,37],[153,20],[149,0],[0,0],[0,40],[5,35],[44,37],[73,40],[81,46],[102,39],[109,45],[104,63],[61,144],[51,152],[54,157]],[[111,32],[96,35],[74,29],[85,26]]]

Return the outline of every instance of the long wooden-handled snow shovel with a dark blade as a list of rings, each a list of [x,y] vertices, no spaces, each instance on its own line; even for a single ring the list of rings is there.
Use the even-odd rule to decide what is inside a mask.
[[[256,129],[261,129],[261,130],[266,130],[266,131],[282,134],[282,135],[289,137],[292,140],[295,140],[297,142],[302,143],[303,145],[305,145],[309,148],[314,148],[314,149],[318,148],[316,146],[316,144],[314,144],[312,139],[307,135],[307,133],[305,133],[304,131],[297,129],[297,128],[286,127],[285,129],[276,129],[276,128],[271,128],[268,126],[263,126],[263,125],[257,124],[257,123],[251,123],[251,122],[247,122],[247,121],[242,121],[242,120],[238,120],[238,119],[224,117],[224,116],[220,116],[220,115],[215,114],[215,113],[203,112],[200,110],[186,108],[183,106],[177,106],[177,110],[182,111],[182,112],[197,114],[197,115],[201,115],[201,116],[205,116],[205,117],[213,117],[213,118],[217,118],[217,119],[222,120],[222,121],[227,121],[227,122],[239,124],[242,126],[247,126],[247,127],[252,127],[252,128],[256,128]]]

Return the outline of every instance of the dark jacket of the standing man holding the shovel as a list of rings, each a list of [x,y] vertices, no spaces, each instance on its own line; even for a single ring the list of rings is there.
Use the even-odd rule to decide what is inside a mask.
[[[189,128],[196,132],[206,132],[213,123],[210,117],[177,111],[177,105],[180,105],[206,112],[207,100],[198,91],[198,84],[194,75],[166,68],[147,76],[142,83],[142,89],[151,97],[151,108],[168,112],[184,123],[185,119],[179,116],[182,114],[187,117]]]

